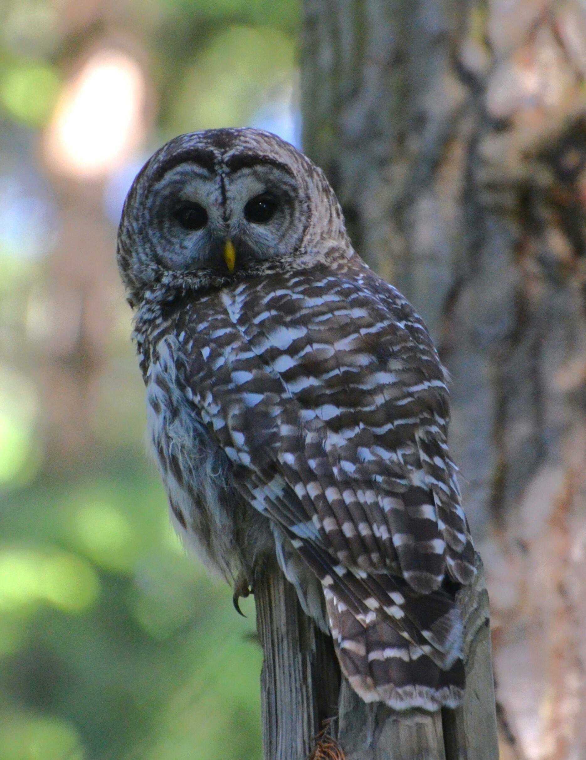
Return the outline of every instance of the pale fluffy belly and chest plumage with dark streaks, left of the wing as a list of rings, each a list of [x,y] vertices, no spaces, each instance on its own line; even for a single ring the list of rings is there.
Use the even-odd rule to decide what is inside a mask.
[[[272,549],[271,531],[234,488],[233,467],[193,404],[177,316],[158,315],[147,334],[137,335],[147,391],[147,444],[185,546],[212,573],[229,581],[242,572],[252,578],[255,561]]]

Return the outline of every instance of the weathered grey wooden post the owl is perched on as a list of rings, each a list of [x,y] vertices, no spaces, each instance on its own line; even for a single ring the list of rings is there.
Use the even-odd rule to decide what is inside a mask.
[[[436,713],[366,705],[341,678],[331,640],[303,613],[293,586],[276,566],[267,568],[255,585],[264,760],[307,760],[325,726],[344,760],[497,760],[488,594],[478,556],[477,568],[475,583],[458,594],[464,702]]]

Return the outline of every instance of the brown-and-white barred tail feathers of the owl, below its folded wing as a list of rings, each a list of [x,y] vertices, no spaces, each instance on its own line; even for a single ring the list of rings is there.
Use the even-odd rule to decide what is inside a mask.
[[[447,591],[418,594],[388,572],[334,565],[309,541],[294,546],[322,581],[341,669],[364,701],[394,710],[459,704],[462,622]]]

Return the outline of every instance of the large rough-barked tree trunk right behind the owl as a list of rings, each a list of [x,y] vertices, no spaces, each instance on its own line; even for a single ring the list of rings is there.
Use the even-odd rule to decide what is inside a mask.
[[[305,2],[304,148],[453,378],[503,757],[586,756],[584,78],[579,0]]]

